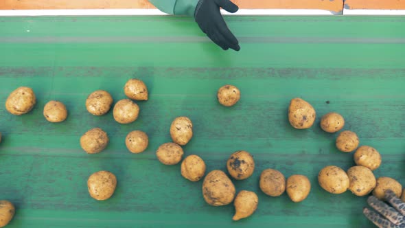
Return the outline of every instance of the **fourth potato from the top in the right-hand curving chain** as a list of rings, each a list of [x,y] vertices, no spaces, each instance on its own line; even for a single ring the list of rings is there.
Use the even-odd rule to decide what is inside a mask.
[[[381,165],[381,155],[371,146],[360,146],[356,152],[354,152],[354,162],[358,166],[376,170]]]

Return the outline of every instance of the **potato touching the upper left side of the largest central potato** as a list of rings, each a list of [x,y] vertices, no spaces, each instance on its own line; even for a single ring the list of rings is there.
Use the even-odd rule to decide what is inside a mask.
[[[189,155],[181,163],[181,176],[189,181],[200,181],[204,174],[205,162],[197,155]]]

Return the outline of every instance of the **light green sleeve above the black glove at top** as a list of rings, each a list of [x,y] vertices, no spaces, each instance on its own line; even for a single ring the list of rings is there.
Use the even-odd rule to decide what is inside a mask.
[[[156,8],[175,15],[194,16],[199,0],[149,0]]]

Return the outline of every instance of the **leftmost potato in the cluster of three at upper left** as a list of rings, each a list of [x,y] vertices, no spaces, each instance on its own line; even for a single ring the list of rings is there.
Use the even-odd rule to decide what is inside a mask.
[[[108,113],[113,104],[113,97],[104,90],[94,91],[86,99],[86,109],[93,115],[104,115]]]

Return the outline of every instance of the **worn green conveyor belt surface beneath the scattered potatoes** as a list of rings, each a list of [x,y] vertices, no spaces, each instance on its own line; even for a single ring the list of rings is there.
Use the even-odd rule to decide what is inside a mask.
[[[22,85],[38,97],[36,108],[19,117],[0,106],[0,199],[16,205],[9,227],[370,227],[361,213],[365,197],[332,195],[316,182],[323,166],[354,165],[352,154],[334,147],[336,135],[320,130],[319,117],[341,113],[345,129],[381,152],[375,175],[405,183],[405,18],[227,21],[240,38],[240,52],[223,52],[181,17],[0,18],[0,101]],[[124,98],[128,78],[141,78],[150,89],[150,100],[138,102],[136,122],[121,125],[111,112],[86,112],[86,96],[95,89],[106,89],[115,101]],[[236,106],[216,102],[223,84],[242,91]],[[317,111],[309,130],[288,124],[294,97]],[[65,102],[66,122],[45,121],[42,107],[49,100]],[[232,222],[232,205],[207,205],[202,181],[191,183],[180,166],[157,161],[154,152],[170,141],[170,123],[178,115],[194,122],[185,154],[200,155],[208,171],[225,170],[235,150],[253,154],[253,176],[234,181],[237,190],[259,196],[251,218]],[[86,155],[79,138],[93,127],[104,128],[111,143],[100,154]],[[139,155],[124,144],[136,129],[150,137],[148,150]],[[302,203],[286,194],[265,196],[258,177],[266,168],[308,175],[310,196]],[[108,201],[87,193],[86,179],[98,170],[117,175],[117,191]]]

